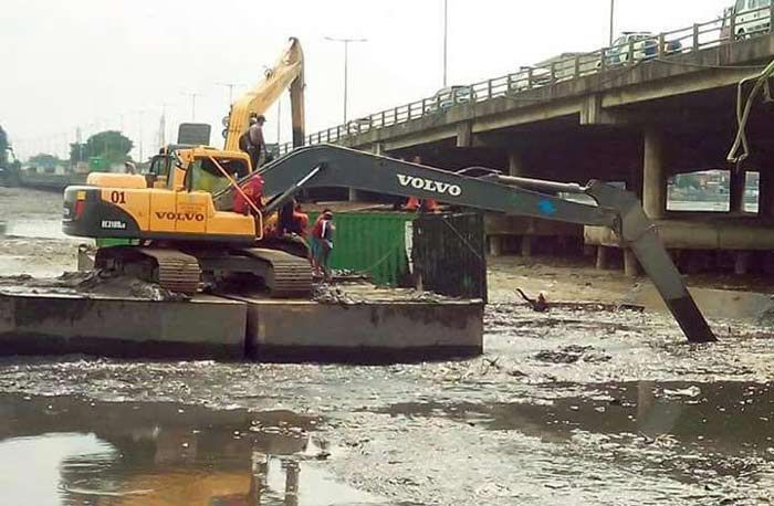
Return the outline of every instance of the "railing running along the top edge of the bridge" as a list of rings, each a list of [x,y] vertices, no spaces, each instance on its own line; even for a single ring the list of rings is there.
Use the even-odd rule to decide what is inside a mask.
[[[756,15],[757,14],[757,15]],[[370,116],[354,119],[308,135],[305,145],[337,143],[347,137],[412,122],[469,103],[480,103],[501,97],[515,97],[543,86],[572,81],[613,68],[634,66],[649,60],[686,54],[725,43],[773,33],[774,9],[762,7],[742,13],[726,13],[705,23],[694,23],[680,30],[661,32],[629,42],[603,48],[590,53],[573,53],[541,66],[524,66],[513,74],[463,86],[470,89],[464,99],[450,94],[451,99],[438,95],[406,105],[385,109]],[[292,144],[279,146],[280,155],[293,149]]]

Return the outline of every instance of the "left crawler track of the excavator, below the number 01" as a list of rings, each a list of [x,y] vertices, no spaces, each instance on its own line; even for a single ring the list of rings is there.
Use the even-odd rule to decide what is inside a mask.
[[[170,292],[195,295],[201,283],[199,261],[177,250],[111,246],[97,251],[95,266],[135,276]]]

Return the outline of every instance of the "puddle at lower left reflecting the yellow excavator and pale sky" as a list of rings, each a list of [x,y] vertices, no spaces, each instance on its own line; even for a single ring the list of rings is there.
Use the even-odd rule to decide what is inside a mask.
[[[351,505],[321,420],[290,411],[0,396],[0,487],[13,505]],[[23,457],[20,457],[23,455]]]

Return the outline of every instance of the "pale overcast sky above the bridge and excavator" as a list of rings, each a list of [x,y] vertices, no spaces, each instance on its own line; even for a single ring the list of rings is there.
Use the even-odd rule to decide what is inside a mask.
[[[608,40],[609,0],[448,2],[449,84]],[[731,3],[616,0],[615,31],[686,28]],[[220,84],[234,83],[236,96],[254,85],[290,36],[305,53],[307,133],[343,123],[344,51],[326,36],[367,39],[349,49],[349,119],[442,87],[443,0],[2,0],[0,125],[22,157],[64,157],[77,129],[83,140],[121,129],[135,157],[143,139],[147,158],[163,112],[167,140],[196,119],[220,146],[229,108]],[[286,95],[279,107],[266,114],[269,141],[290,140]]]

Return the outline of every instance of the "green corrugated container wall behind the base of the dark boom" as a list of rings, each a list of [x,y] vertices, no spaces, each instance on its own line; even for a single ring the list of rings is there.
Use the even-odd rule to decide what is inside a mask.
[[[310,213],[310,224],[317,214]],[[336,212],[331,267],[367,274],[377,285],[398,285],[408,274],[407,223],[416,218],[408,212]]]

